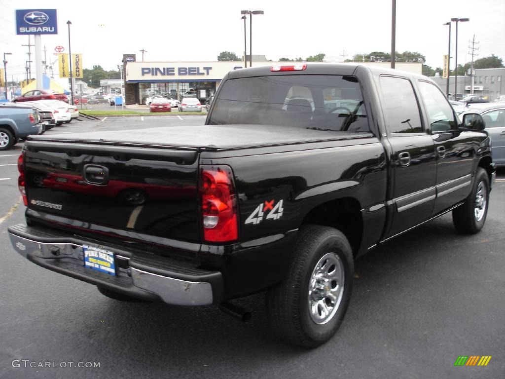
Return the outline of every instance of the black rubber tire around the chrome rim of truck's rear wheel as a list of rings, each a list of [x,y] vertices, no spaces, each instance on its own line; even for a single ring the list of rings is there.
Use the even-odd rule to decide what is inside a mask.
[[[333,315],[331,316],[330,313],[328,320],[320,324],[316,323],[311,315],[309,287],[316,265],[323,257],[331,253],[340,260],[340,267],[344,274],[344,287],[341,300]],[[286,277],[267,292],[267,314],[273,332],[281,339],[305,348],[315,348],[324,344],[333,337],[343,320],[349,304],[353,280],[354,260],[345,235],[328,226],[304,226],[299,231],[291,261],[288,263]],[[330,287],[333,286],[332,281]],[[329,290],[329,288],[324,287],[321,290]],[[322,301],[326,300],[327,298]],[[319,306],[316,308],[319,312]]]

